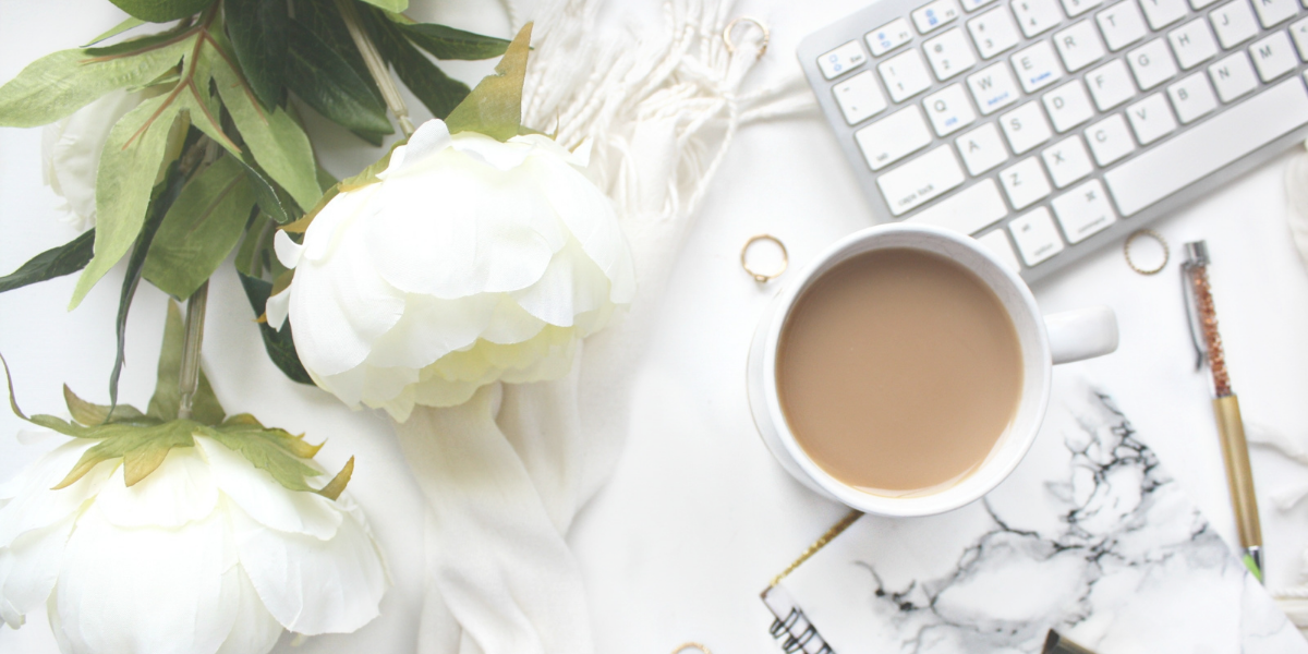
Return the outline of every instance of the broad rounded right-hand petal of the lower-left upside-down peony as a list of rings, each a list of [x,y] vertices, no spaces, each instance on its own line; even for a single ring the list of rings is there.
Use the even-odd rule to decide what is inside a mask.
[[[238,506],[228,511],[241,565],[268,612],[297,633],[353,632],[378,615],[386,572],[371,535],[347,514],[336,538],[268,530]]]

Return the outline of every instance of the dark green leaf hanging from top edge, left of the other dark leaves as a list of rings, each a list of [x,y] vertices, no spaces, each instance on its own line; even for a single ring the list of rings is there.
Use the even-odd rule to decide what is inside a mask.
[[[263,109],[271,111],[286,94],[281,75],[290,21],[286,0],[226,0],[222,9],[241,71]]]

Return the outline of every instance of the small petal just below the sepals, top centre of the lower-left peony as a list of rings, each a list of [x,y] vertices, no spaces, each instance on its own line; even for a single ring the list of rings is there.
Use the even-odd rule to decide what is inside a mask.
[[[95,508],[119,527],[181,527],[213,513],[218,489],[195,447],[169,450],[164,463],[132,487],[123,467],[101,488]]]

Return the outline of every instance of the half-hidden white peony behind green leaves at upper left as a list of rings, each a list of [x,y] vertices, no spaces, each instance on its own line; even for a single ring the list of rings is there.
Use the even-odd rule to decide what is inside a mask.
[[[41,135],[41,174],[46,186],[64,199],[67,222],[78,232],[95,225],[95,173],[109,131],[141,103],[141,93],[114,90],[46,126]]]

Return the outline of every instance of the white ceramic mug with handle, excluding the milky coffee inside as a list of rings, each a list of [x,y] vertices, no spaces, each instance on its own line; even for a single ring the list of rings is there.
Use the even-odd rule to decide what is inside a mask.
[[[954,485],[933,493],[889,497],[846,485],[819,467],[795,441],[777,398],[777,343],[795,300],[836,264],[862,252],[910,247],[944,255],[967,267],[999,297],[1022,347],[1023,382],[1016,415],[986,460]],[[763,441],[787,472],[818,493],[865,513],[931,515],[981,498],[1018,467],[1031,449],[1049,403],[1054,364],[1117,349],[1117,318],[1105,306],[1041,317],[1022,277],[977,241],[926,225],[880,225],[832,245],[804,267],[769,305],[749,347],[749,408]],[[942,407],[947,409],[947,407]]]

